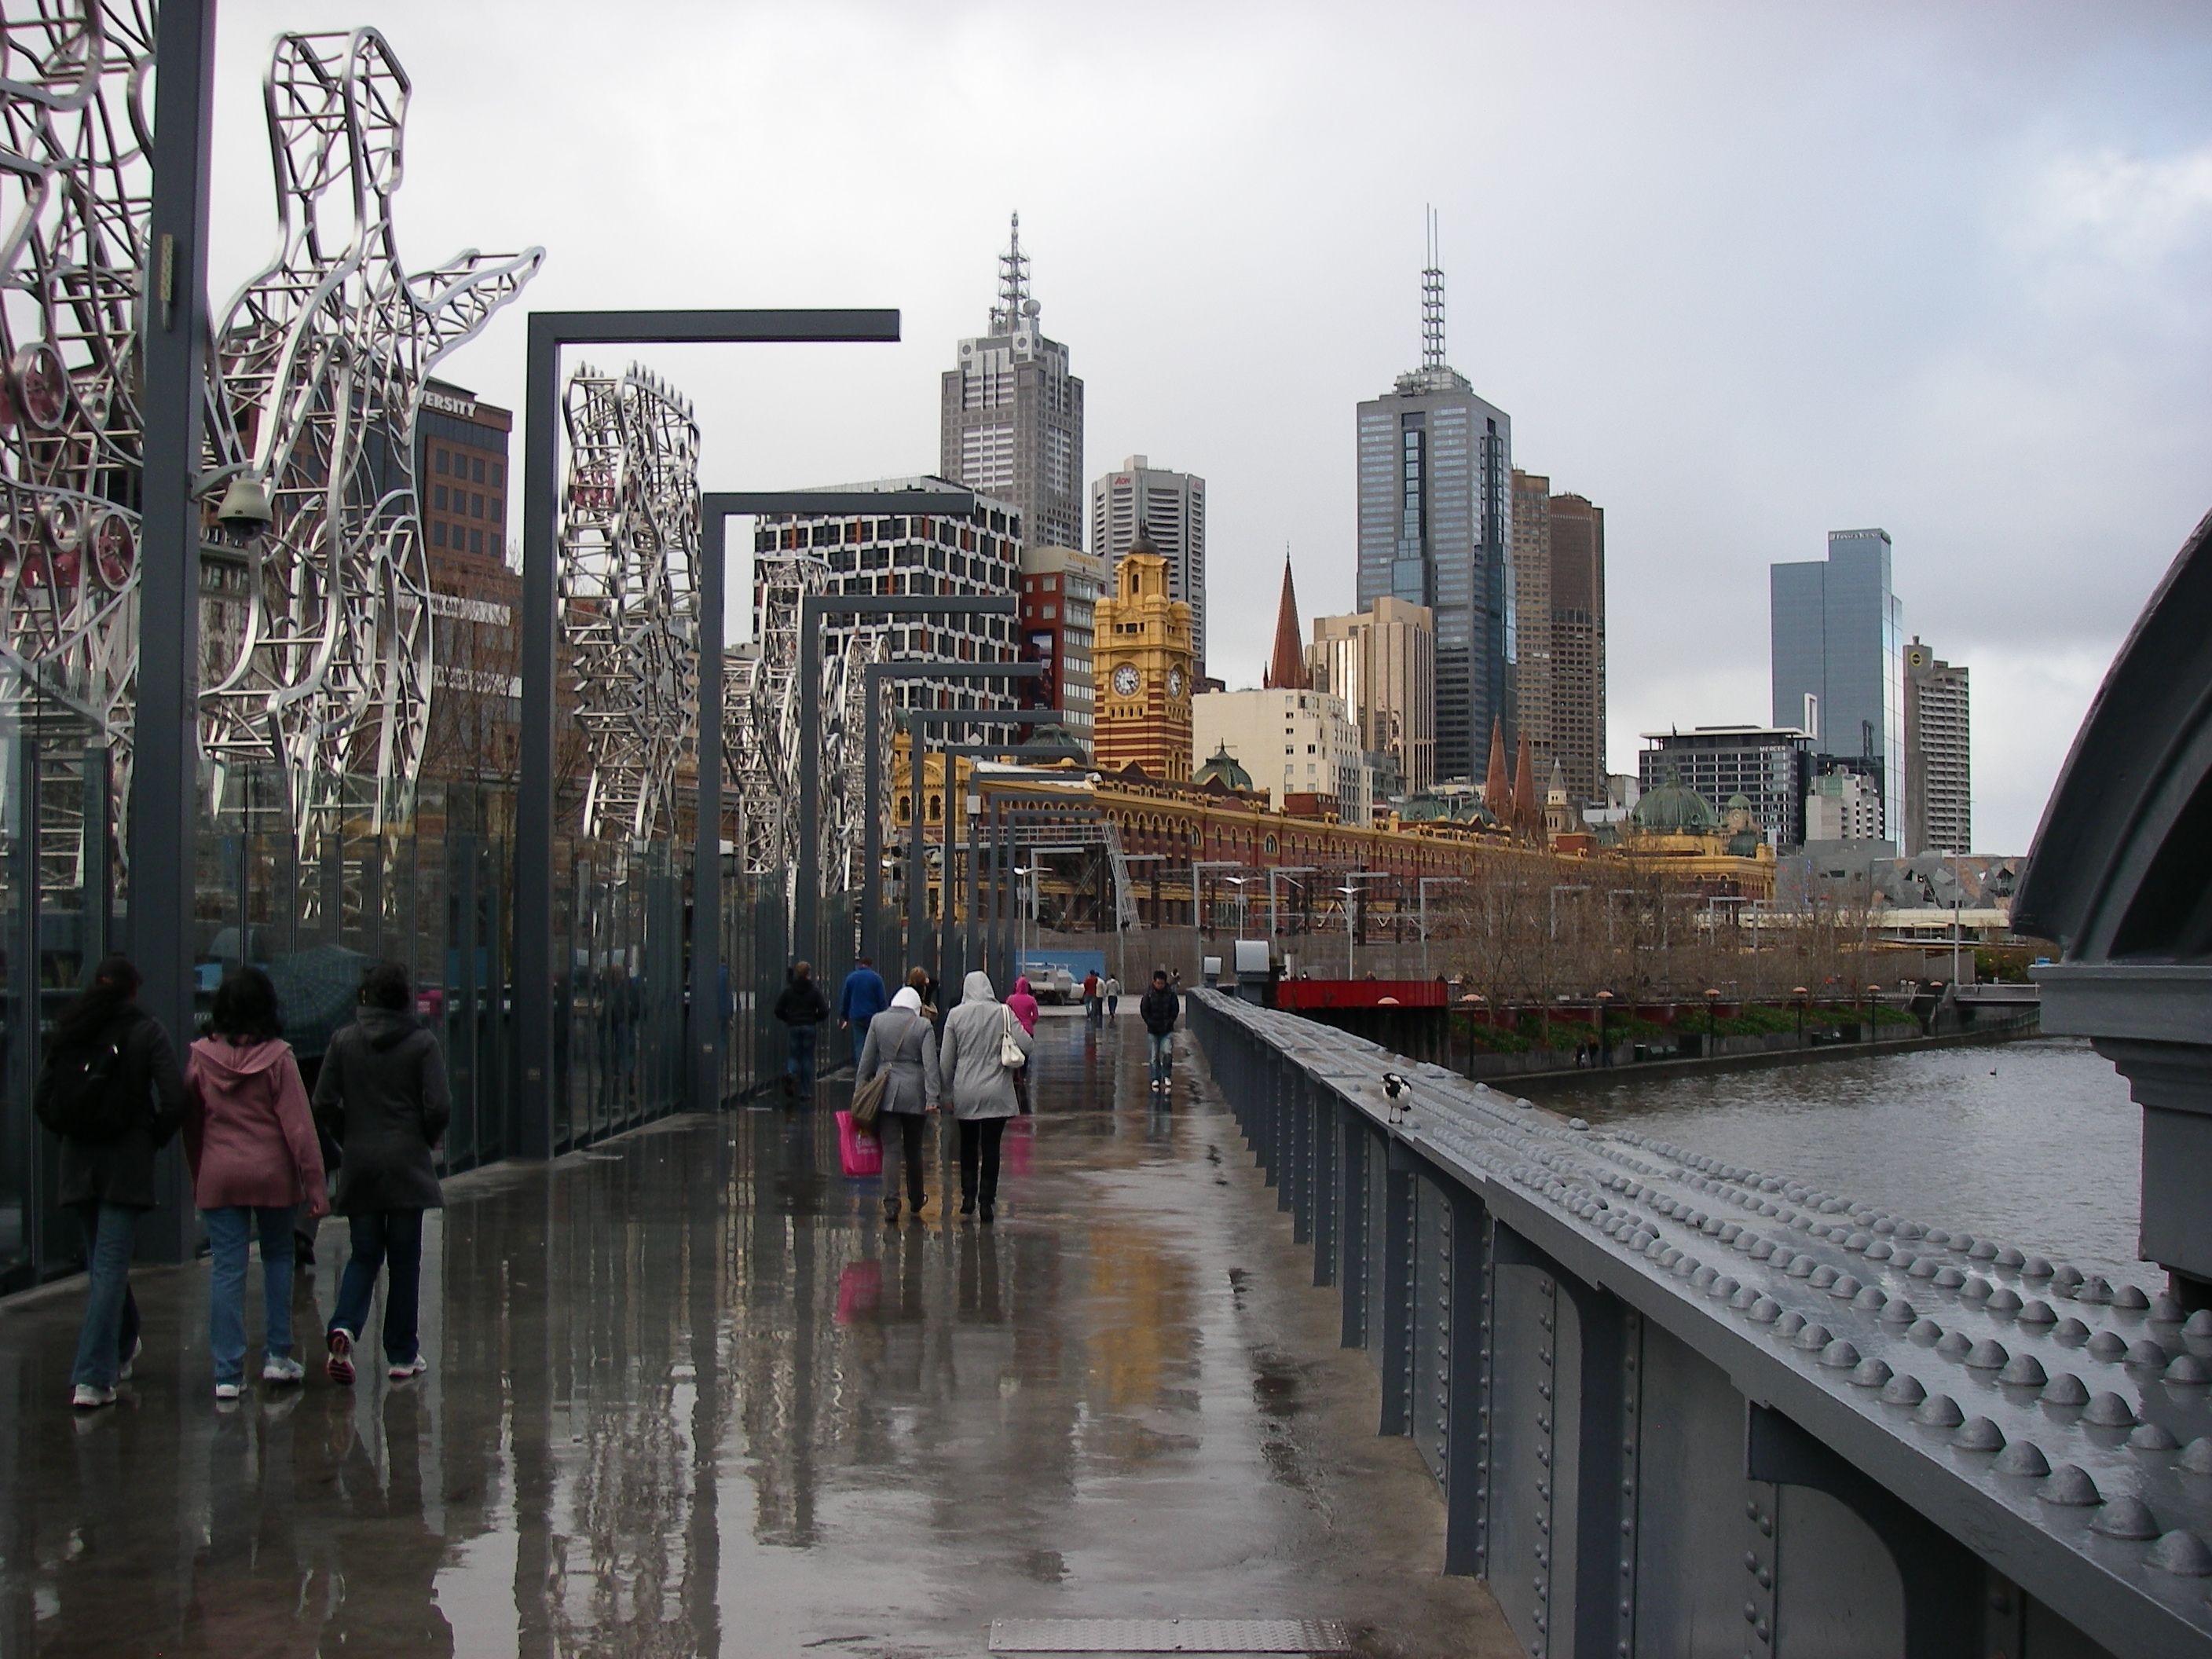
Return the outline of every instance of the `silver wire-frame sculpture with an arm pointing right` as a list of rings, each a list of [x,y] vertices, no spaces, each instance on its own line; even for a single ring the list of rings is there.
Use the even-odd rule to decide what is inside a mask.
[[[281,234],[217,327],[210,420],[219,518],[246,538],[230,560],[243,615],[210,641],[223,666],[201,710],[217,790],[239,763],[281,765],[307,843],[347,810],[372,832],[411,810],[431,695],[422,380],[544,250],[405,270],[392,195],[409,82],[378,31],[279,38],[263,100]],[[347,779],[369,799],[347,801]]]

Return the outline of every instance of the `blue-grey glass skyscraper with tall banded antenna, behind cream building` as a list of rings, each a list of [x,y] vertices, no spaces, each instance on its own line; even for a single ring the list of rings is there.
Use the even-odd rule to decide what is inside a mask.
[[[1422,272],[1420,367],[1358,409],[1358,604],[1436,613],[1436,772],[1469,779],[1511,721],[1513,422],[1444,363],[1444,272]]]

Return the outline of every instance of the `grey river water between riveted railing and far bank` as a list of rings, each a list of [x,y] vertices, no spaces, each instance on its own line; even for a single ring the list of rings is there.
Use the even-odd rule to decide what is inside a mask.
[[[2157,1294],[2135,1259],[2141,1108],[2079,1040],[2026,1037],[1528,1097]]]

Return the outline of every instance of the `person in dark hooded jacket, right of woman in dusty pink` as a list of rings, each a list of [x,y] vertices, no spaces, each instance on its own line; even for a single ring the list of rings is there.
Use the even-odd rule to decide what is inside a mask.
[[[369,1318],[376,1276],[385,1285],[385,1376],[403,1383],[429,1369],[416,1314],[422,1296],[422,1212],[445,1203],[431,1150],[445,1139],[453,1099],[438,1040],[414,1013],[414,987],[398,962],[378,962],[361,982],[361,1013],[330,1040],[314,1079],[314,1113],[345,1152],[338,1214],[352,1232],[338,1305],[323,1334],[332,1383],[354,1380],[354,1349]]]

